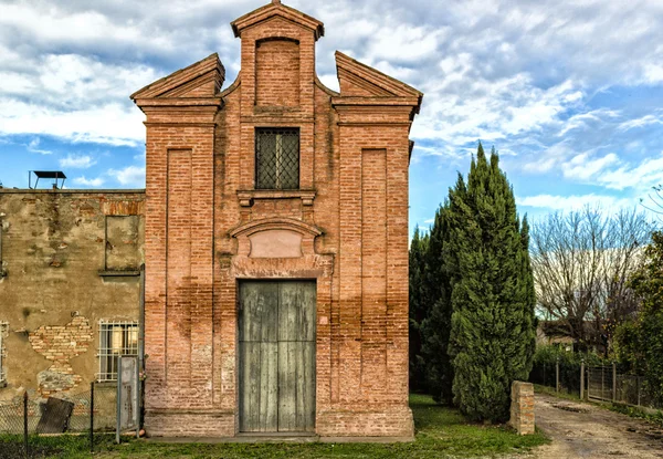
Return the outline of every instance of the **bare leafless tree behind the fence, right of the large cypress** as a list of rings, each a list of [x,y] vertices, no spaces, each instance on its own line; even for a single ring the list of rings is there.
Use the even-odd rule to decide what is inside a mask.
[[[586,207],[535,223],[530,251],[539,313],[566,328],[577,347],[606,350],[614,325],[638,307],[627,281],[651,230],[636,209],[607,216]]]

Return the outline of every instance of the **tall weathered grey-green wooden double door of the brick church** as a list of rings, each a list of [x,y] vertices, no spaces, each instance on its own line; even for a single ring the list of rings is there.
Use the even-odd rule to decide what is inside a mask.
[[[240,431],[315,430],[315,282],[240,284]]]

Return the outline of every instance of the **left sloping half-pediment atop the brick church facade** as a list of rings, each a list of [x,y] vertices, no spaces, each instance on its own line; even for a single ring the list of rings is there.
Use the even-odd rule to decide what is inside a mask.
[[[212,97],[223,85],[225,70],[217,53],[180,69],[131,94],[131,100],[156,97]]]

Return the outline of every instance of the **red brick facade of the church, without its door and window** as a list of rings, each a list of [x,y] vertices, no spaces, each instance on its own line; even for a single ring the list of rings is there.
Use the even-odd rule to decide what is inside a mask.
[[[325,88],[315,74],[317,32],[295,13],[281,6],[252,13],[265,20],[236,31],[242,71],[223,93],[191,90],[196,100],[140,100],[137,93],[147,114],[151,435],[238,432],[242,279],[317,281],[319,435],[413,434],[408,134],[417,102],[381,88],[378,95],[389,100],[376,104],[370,90],[390,80],[360,67],[364,76],[343,86],[350,96],[367,96],[366,103]],[[196,71],[176,75],[193,77]],[[377,81],[361,80],[370,77]],[[299,128],[301,191],[254,190],[254,133],[263,126]],[[302,257],[252,258],[249,237],[274,229],[299,233]]]

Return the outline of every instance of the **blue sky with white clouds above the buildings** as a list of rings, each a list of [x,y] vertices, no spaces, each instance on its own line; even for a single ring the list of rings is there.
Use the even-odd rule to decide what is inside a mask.
[[[71,188],[145,186],[128,95],[218,52],[266,0],[0,1],[0,180],[62,169]],[[638,205],[663,182],[661,0],[284,0],[334,51],[425,93],[412,128],[411,226],[428,227],[477,140],[501,154],[520,212]]]

